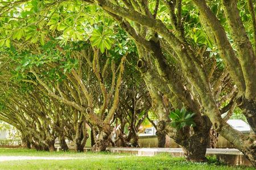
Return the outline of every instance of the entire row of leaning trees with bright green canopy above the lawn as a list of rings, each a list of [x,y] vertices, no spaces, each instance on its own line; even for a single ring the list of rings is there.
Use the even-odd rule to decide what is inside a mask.
[[[205,161],[213,128],[256,165],[253,1],[9,0],[0,8],[0,118],[35,147],[53,150],[59,137],[82,151],[86,124],[94,151],[114,145],[113,133],[137,146],[151,111],[159,146],[168,135],[188,160]],[[226,123],[235,109],[249,135]]]

